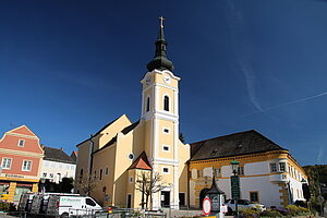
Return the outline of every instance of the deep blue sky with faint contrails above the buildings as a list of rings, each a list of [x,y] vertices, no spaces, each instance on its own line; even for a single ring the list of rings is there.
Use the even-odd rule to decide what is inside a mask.
[[[1,1],[0,132],[75,145],[126,113],[165,16],[189,143],[257,130],[327,164],[327,1]]]

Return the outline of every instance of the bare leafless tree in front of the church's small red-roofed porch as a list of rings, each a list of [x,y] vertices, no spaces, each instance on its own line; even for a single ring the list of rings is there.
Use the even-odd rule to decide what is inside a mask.
[[[162,177],[158,172],[142,171],[136,174],[136,190],[142,193],[142,208],[148,208],[149,199],[154,193],[165,189]]]

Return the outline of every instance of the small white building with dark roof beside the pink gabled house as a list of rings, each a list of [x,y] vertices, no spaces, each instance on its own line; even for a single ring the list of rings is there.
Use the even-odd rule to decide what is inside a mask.
[[[45,157],[41,167],[41,178],[59,183],[62,178],[75,179],[76,161],[63,149],[44,147]]]

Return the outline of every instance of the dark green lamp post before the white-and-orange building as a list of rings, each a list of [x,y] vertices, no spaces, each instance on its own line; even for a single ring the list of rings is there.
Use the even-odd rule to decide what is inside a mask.
[[[238,199],[240,198],[240,178],[239,178],[239,167],[240,162],[235,158],[230,162],[233,175],[230,177],[231,181],[231,196],[235,203],[235,216],[239,217]]]

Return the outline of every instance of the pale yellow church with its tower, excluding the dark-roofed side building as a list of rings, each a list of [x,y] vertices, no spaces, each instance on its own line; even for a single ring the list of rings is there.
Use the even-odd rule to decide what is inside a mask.
[[[149,207],[186,204],[190,146],[179,140],[180,77],[172,73],[166,48],[161,25],[155,58],[141,81],[141,119],[132,123],[124,114],[77,145],[76,192],[82,193],[78,180],[93,177],[97,185],[90,195],[100,204],[140,207],[137,178],[150,171],[162,178],[162,190],[150,196]]]

